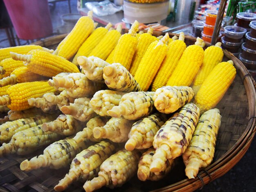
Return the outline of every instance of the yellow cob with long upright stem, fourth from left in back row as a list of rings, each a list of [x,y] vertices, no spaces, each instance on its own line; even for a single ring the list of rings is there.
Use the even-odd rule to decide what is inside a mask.
[[[115,47],[113,63],[121,63],[127,70],[130,69],[132,57],[135,53],[138,40],[136,32],[139,29],[139,22],[135,20],[128,33],[123,34]]]

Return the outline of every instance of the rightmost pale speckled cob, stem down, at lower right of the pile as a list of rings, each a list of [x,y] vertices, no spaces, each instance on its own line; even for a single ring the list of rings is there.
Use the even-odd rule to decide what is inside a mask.
[[[182,154],[189,179],[195,178],[201,167],[205,168],[212,162],[220,119],[220,110],[216,108],[204,112],[199,118],[189,146]]]

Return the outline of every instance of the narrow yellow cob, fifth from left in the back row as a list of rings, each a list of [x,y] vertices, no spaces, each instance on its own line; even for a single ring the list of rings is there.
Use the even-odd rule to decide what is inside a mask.
[[[129,69],[132,76],[135,76],[135,73],[139,66],[139,62],[141,61],[142,57],[146,53],[148,46],[151,44],[151,42],[154,42],[155,40],[157,40],[155,36],[152,36],[153,30],[154,29],[152,27],[149,27],[147,33],[141,34],[138,38],[138,44],[135,50],[135,54],[132,58],[130,69]]]

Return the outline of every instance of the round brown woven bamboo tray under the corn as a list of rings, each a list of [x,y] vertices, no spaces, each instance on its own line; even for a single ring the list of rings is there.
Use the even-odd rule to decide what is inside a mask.
[[[174,35],[172,33],[169,34],[170,36]],[[159,36],[161,32],[155,32],[154,35]],[[55,48],[65,36],[66,34],[47,38],[34,44]],[[187,45],[191,45],[195,42],[195,38],[186,36],[185,42]],[[232,59],[234,61],[237,75],[227,93],[217,105],[222,119],[213,163],[205,170],[200,171],[198,177],[189,180],[185,176],[185,167],[180,158],[179,163],[171,173],[160,181],[142,182],[137,179],[137,176],[134,176],[121,188],[111,191],[193,191],[228,172],[243,157],[252,142],[256,130],[255,82],[240,60],[226,50],[224,54],[223,60]],[[23,160],[42,154],[42,152],[43,149],[27,156],[9,155],[0,158],[0,191],[54,191],[54,186],[68,172],[69,167],[61,170],[41,168],[29,172],[23,172],[19,168]],[[66,191],[83,191],[82,186],[83,183],[76,182]],[[98,191],[108,190],[108,188],[104,187]]]

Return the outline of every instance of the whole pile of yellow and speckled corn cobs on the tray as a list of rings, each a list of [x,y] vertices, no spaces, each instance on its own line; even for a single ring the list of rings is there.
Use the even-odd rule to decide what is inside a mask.
[[[76,180],[86,191],[114,188],[136,174],[157,181],[178,156],[195,178],[213,160],[221,118],[214,107],[236,76],[233,62],[222,62],[220,43],[204,50],[198,38],[186,47],[184,33],[156,38],[152,29],[137,33],[137,21],[123,35],[120,26],[94,27],[88,13],[56,50],[0,49],[0,105],[8,112],[0,156],[50,144],[20,169],[71,163],[56,191]]]

